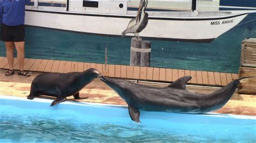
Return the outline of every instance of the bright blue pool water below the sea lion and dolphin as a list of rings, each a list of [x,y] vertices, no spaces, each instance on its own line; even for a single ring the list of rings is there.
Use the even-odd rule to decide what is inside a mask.
[[[64,102],[50,107],[52,100],[4,98],[0,142],[256,141],[254,117],[141,112],[139,124],[131,121],[124,106]]]

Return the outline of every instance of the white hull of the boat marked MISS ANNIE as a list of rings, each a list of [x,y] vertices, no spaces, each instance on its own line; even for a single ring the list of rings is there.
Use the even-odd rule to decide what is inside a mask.
[[[230,30],[248,13],[221,16],[149,17],[140,37],[161,40],[211,42]],[[74,32],[122,36],[132,15],[99,15],[26,10],[25,24]],[[127,34],[132,36],[133,34]]]

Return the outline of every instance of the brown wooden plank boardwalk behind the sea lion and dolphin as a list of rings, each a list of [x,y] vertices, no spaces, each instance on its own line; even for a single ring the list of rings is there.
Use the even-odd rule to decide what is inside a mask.
[[[0,69],[8,69],[6,57],[0,56]],[[17,58],[14,59],[14,69],[18,70]],[[102,63],[87,63],[75,61],[59,61],[45,59],[25,59],[24,69],[38,72],[68,73],[71,71],[84,71],[89,68],[96,68],[100,73],[109,77],[120,77],[134,80],[173,82],[182,76],[192,76],[190,84],[224,86],[238,74],[219,73],[213,71],[195,71],[184,69],[136,67],[124,65],[105,65]],[[105,70],[106,69],[106,70]]]

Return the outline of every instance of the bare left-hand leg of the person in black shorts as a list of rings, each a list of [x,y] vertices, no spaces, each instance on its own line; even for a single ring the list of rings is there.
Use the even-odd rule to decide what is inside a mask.
[[[14,69],[14,42],[5,42],[6,57],[8,60],[9,69]]]

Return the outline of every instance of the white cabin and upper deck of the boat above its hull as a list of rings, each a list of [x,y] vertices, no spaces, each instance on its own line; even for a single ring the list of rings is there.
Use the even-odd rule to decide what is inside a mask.
[[[26,6],[26,9],[77,13],[104,13],[106,15],[137,15],[139,1],[140,0],[31,0],[30,4]],[[225,8],[225,6],[219,5],[219,0],[211,3],[206,0],[148,1],[149,4],[147,5],[146,12],[149,13],[150,16],[193,17],[228,15],[234,13],[230,11],[219,11],[219,8]],[[227,8],[230,8],[230,6],[227,6]],[[247,7],[232,6],[232,8],[245,9]]]

